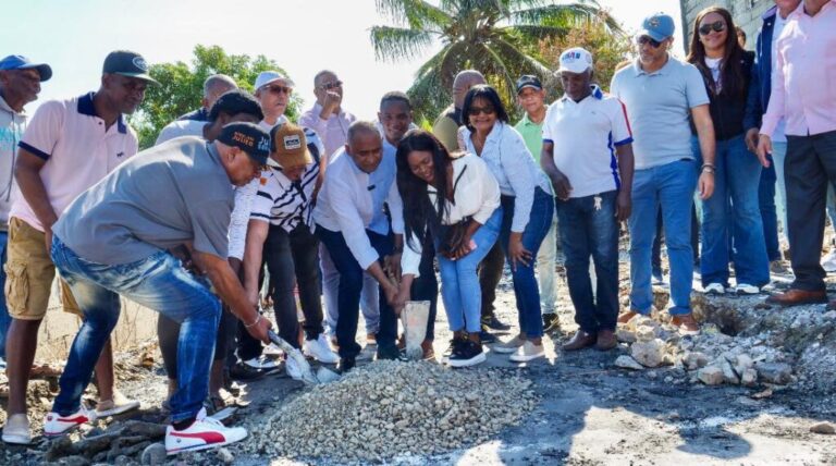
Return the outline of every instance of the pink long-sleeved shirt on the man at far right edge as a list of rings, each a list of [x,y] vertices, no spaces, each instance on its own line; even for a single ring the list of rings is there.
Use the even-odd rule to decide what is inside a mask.
[[[775,66],[761,133],[772,136],[782,118],[790,136],[836,131],[836,0],[815,16],[804,12],[803,1],[789,14]]]

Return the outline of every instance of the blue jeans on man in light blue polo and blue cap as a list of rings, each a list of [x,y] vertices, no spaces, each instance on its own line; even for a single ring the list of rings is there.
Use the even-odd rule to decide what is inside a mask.
[[[667,258],[671,265],[673,316],[691,312],[693,250],[691,249],[691,206],[697,188],[693,160],[684,159],[636,170],[632,180],[630,214],[630,310],[650,314],[653,289],[650,284],[651,249],[656,234],[656,214],[662,206]]]

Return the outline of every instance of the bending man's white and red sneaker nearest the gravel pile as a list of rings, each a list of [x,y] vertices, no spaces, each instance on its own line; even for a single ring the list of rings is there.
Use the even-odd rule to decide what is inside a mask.
[[[169,425],[165,428],[165,453],[175,455],[182,452],[196,452],[214,449],[244,440],[247,430],[243,427],[225,427],[221,421],[206,416],[206,409],[200,409],[197,418],[183,430]]]

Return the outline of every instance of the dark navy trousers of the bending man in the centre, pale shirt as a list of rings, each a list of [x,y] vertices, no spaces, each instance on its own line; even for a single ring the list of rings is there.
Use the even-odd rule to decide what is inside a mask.
[[[371,247],[378,253],[378,260],[383,265],[383,257],[392,254],[392,238],[370,230],[366,230]],[[362,268],[357,263],[345,237],[340,232],[332,232],[320,225],[317,225],[317,236],[328,248],[331,260],[340,273],[340,286],[337,289],[337,318],[336,318],[336,343],[340,345],[340,357],[356,357],[360,345],[357,343],[357,319],[360,314],[360,294],[364,286]],[[380,329],[378,330],[378,348],[388,348],[395,346],[397,333],[397,318],[392,306],[386,302],[383,290],[379,289],[378,301],[380,302]]]

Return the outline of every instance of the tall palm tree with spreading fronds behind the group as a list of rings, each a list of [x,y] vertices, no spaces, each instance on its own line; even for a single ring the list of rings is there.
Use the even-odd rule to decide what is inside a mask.
[[[378,11],[397,23],[373,26],[371,44],[379,60],[410,60],[437,41],[441,50],[416,73],[408,94],[419,114],[433,118],[451,101],[453,77],[476,69],[506,99],[522,74],[551,81],[537,56],[542,39],[563,37],[574,27],[603,22],[616,33],[615,20],[594,0],[376,0]],[[506,100],[508,101],[508,100]]]

